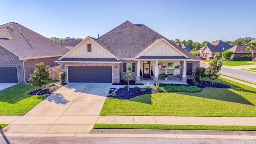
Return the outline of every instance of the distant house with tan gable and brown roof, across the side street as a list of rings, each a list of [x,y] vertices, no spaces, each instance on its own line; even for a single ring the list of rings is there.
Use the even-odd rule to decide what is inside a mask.
[[[230,46],[226,42],[223,42],[222,40],[216,40],[213,41],[211,44],[206,44],[204,47],[200,48],[200,56],[209,58],[211,56],[215,56],[216,52],[219,52],[221,56],[222,48],[224,48],[224,50],[229,50],[230,48],[232,48],[232,46]]]

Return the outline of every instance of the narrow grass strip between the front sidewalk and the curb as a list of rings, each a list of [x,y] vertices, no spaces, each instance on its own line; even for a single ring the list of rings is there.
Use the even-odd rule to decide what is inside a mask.
[[[95,129],[155,129],[155,130],[256,130],[256,126],[205,126],[169,124],[95,124]]]

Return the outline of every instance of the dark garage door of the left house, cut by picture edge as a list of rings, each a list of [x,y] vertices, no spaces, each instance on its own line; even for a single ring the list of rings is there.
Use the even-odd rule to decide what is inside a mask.
[[[18,83],[17,67],[0,66],[0,83]]]

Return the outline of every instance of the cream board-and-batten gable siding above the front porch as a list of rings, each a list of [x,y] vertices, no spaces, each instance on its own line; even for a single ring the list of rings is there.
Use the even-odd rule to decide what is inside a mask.
[[[162,40],[142,56],[182,56],[182,54]]]

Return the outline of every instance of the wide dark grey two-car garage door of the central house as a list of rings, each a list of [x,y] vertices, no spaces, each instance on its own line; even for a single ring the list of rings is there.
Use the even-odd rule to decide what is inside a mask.
[[[68,66],[68,82],[112,82],[112,67]]]

